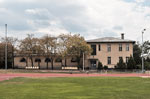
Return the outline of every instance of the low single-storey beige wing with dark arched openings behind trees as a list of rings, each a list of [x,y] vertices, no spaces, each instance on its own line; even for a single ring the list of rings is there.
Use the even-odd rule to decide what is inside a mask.
[[[68,66],[68,67],[77,67],[78,64],[73,58],[67,58],[61,59],[59,57],[55,57],[51,59],[50,57],[45,57],[43,55],[34,55],[32,56],[33,59],[33,66],[39,67],[39,69],[54,69],[54,70],[60,70],[62,67]],[[15,68],[21,68],[25,69],[26,67],[32,67],[31,59],[27,58],[23,55],[16,55],[14,58],[15,60]],[[37,61],[38,60],[38,61]],[[40,61],[39,61],[40,60]],[[46,61],[48,60],[48,61]]]

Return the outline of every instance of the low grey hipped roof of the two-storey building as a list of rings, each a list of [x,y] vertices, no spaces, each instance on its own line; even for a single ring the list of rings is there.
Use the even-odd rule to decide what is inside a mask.
[[[121,39],[115,37],[104,37],[98,39],[87,40],[87,43],[135,43],[133,40]]]

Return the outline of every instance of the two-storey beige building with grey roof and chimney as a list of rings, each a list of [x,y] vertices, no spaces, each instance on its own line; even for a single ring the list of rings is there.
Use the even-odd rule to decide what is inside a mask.
[[[133,55],[135,41],[124,39],[124,34],[121,34],[121,38],[104,37],[87,40],[87,43],[91,45],[93,52],[87,56],[86,66],[96,68],[100,61],[108,68],[114,68],[120,58],[127,62],[129,57]]]

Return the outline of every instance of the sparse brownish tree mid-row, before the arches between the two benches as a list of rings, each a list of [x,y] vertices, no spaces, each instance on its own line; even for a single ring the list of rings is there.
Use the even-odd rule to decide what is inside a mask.
[[[48,69],[48,63],[50,62],[49,60],[51,60],[51,66],[52,66],[52,70],[53,70],[53,61],[54,61],[54,57],[56,54],[56,38],[52,37],[50,35],[45,35],[41,38],[41,47],[44,51],[44,53],[46,54],[46,60],[45,62],[47,63],[47,69]],[[48,59],[50,57],[50,59]]]

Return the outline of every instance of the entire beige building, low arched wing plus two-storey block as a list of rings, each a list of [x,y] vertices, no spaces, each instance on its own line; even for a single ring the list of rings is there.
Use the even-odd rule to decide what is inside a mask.
[[[129,57],[133,55],[133,45],[135,41],[124,39],[124,35],[122,34],[121,38],[104,37],[88,40],[87,43],[91,46],[93,52],[91,55],[85,55],[85,68],[96,69],[98,67],[98,62],[108,66],[108,68],[114,68],[120,58],[122,58],[124,62],[127,62]],[[40,59],[40,62],[36,61],[38,59]],[[50,59],[48,68],[45,60],[46,57],[42,55],[33,56],[34,66],[38,67],[40,65],[40,69],[52,69],[52,67],[53,69],[62,69],[65,64],[68,67],[78,66],[77,61],[72,57],[68,57],[67,60],[55,57],[53,63]],[[28,63],[26,63],[26,61],[28,61]],[[16,55],[14,62],[16,68],[26,68],[27,66],[31,66],[30,59],[19,55]],[[81,59],[81,65],[82,63],[83,59]]]

